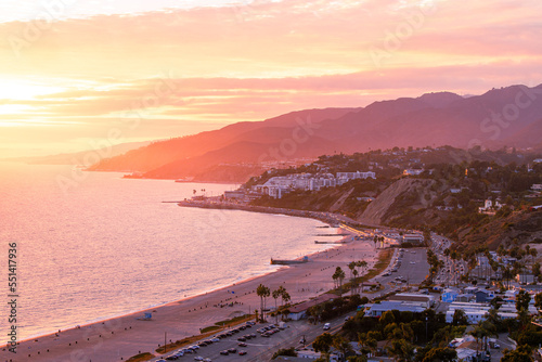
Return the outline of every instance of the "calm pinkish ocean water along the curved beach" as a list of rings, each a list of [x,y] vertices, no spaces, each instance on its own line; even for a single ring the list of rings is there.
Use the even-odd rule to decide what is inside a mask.
[[[334,232],[311,219],[163,203],[231,184],[121,176],[0,163],[0,290],[8,299],[15,242],[20,340],[271,272],[271,257],[320,250],[314,235]],[[8,308],[1,314],[3,333]]]

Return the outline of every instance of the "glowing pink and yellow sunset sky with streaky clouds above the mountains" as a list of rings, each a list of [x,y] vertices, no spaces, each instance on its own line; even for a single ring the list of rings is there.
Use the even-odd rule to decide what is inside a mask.
[[[2,1],[0,157],[535,86],[541,15],[540,0]]]

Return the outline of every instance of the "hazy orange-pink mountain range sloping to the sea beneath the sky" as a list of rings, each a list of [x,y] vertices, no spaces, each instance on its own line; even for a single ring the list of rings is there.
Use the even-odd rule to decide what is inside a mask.
[[[175,179],[209,174],[219,164],[270,166],[288,159],[393,146],[534,147],[540,145],[540,94],[542,85],[511,86],[468,99],[438,92],[359,108],[293,112],[155,142],[103,159],[90,170],[137,171],[147,178]],[[521,107],[514,108],[518,100]],[[506,114],[509,109],[517,113]]]

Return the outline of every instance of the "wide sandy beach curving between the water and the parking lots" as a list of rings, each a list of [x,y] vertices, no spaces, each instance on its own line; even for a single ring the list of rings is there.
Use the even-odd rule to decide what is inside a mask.
[[[332,288],[332,275],[338,266],[348,279],[347,264],[353,260],[367,261],[370,269],[376,260],[374,245],[361,241],[337,244],[310,255],[307,263],[284,267],[270,274],[146,310],[152,312],[150,321],[140,320],[145,312],[140,311],[22,341],[16,354],[2,348],[0,361],[126,361],[140,352],[157,354],[155,349],[164,345],[166,333],[168,342],[176,341],[198,335],[201,328],[216,322],[260,309],[260,298],[255,292],[260,283],[271,290],[284,286],[295,303]],[[267,306],[274,306],[274,299],[268,298]]]

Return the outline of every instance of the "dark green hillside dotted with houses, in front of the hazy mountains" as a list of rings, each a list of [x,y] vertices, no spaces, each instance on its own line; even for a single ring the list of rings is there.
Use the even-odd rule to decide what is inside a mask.
[[[357,179],[335,188],[294,190],[275,199],[267,195],[253,205],[343,214],[361,224],[399,229],[430,229],[461,242],[463,248],[487,244],[542,242],[542,164],[529,166],[540,154],[485,151],[468,154],[452,147],[438,150],[375,151],[322,156],[297,169],[274,170],[253,178],[244,186],[266,183],[272,177],[314,174],[376,168],[377,179]],[[418,167],[418,176],[402,169]],[[489,199],[504,205],[480,212]]]

